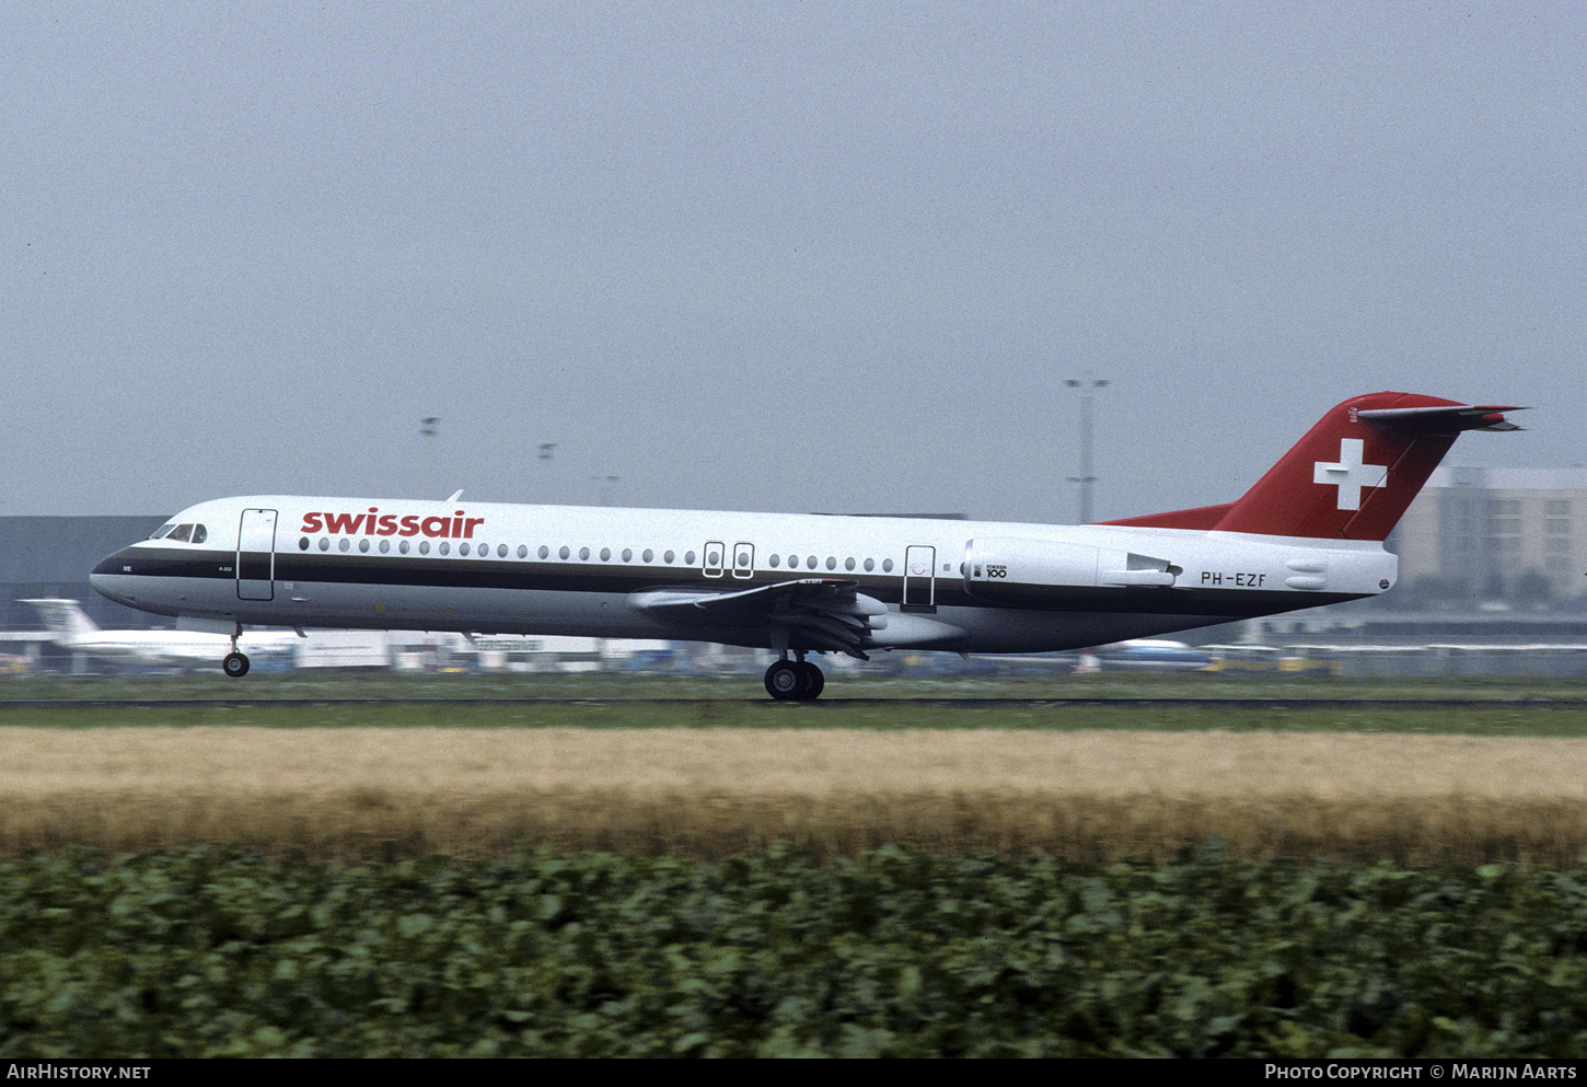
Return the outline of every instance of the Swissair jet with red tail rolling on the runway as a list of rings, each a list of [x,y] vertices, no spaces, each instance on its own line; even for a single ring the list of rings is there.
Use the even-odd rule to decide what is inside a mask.
[[[1079,649],[1378,595],[1389,530],[1462,432],[1520,428],[1506,411],[1354,397],[1235,501],[1089,525],[219,498],[90,584],[230,635],[230,676],[244,624],[662,638],[771,649],[767,692],[808,701],[811,654]]]

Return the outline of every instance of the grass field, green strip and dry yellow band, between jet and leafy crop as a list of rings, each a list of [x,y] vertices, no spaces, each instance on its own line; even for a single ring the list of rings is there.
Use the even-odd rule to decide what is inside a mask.
[[[1579,700],[1581,686],[1076,679],[1097,682],[911,684],[924,697],[913,703],[876,701],[903,689],[833,684],[811,706],[763,701],[755,681],[613,678],[279,678],[249,681],[260,701],[248,705],[0,703],[0,851],[236,844],[355,860],[551,844],[722,857],[781,839],[820,857],[903,843],[1114,862],[1219,838],[1249,858],[1573,865],[1587,854],[1587,711],[1547,708]],[[51,690],[0,698],[214,698],[240,686]],[[943,701],[998,693],[1020,701]],[[574,701],[440,701],[468,695]],[[1143,697],[1251,703],[1030,701]],[[330,701],[346,698],[370,701]]]

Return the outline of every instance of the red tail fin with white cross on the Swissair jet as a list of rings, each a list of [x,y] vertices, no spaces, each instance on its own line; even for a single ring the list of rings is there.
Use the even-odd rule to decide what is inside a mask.
[[[1108,524],[1384,540],[1460,432],[1519,430],[1506,411],[1517,408],[1408,392],[1355,397],[1325,414],[1238,501]],[[1222,514],[1216,522],[1214,511]]]

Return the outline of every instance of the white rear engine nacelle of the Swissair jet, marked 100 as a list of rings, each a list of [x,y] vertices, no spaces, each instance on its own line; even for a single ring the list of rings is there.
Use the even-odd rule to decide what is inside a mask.
[[[965,592],[998,603],[1038,606],[1076,589],[1166,587],[1179,573],[1166,559],[1054,540],[998,536],[965,546]]]

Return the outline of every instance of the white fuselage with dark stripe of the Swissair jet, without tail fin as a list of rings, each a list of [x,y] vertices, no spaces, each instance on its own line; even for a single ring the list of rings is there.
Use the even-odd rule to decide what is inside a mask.
[[[202,525],[181,535],[203,541],[132,544],[94,587],[216,632],[778,647],[776,587],[820,579],[863,600],[859,651],[1044,652],[1376,595],[1397,576],[1376,541],[1162,527],[282,495],[208,501],[175,522]],[[714,603],[757,589],[765,613]]]

